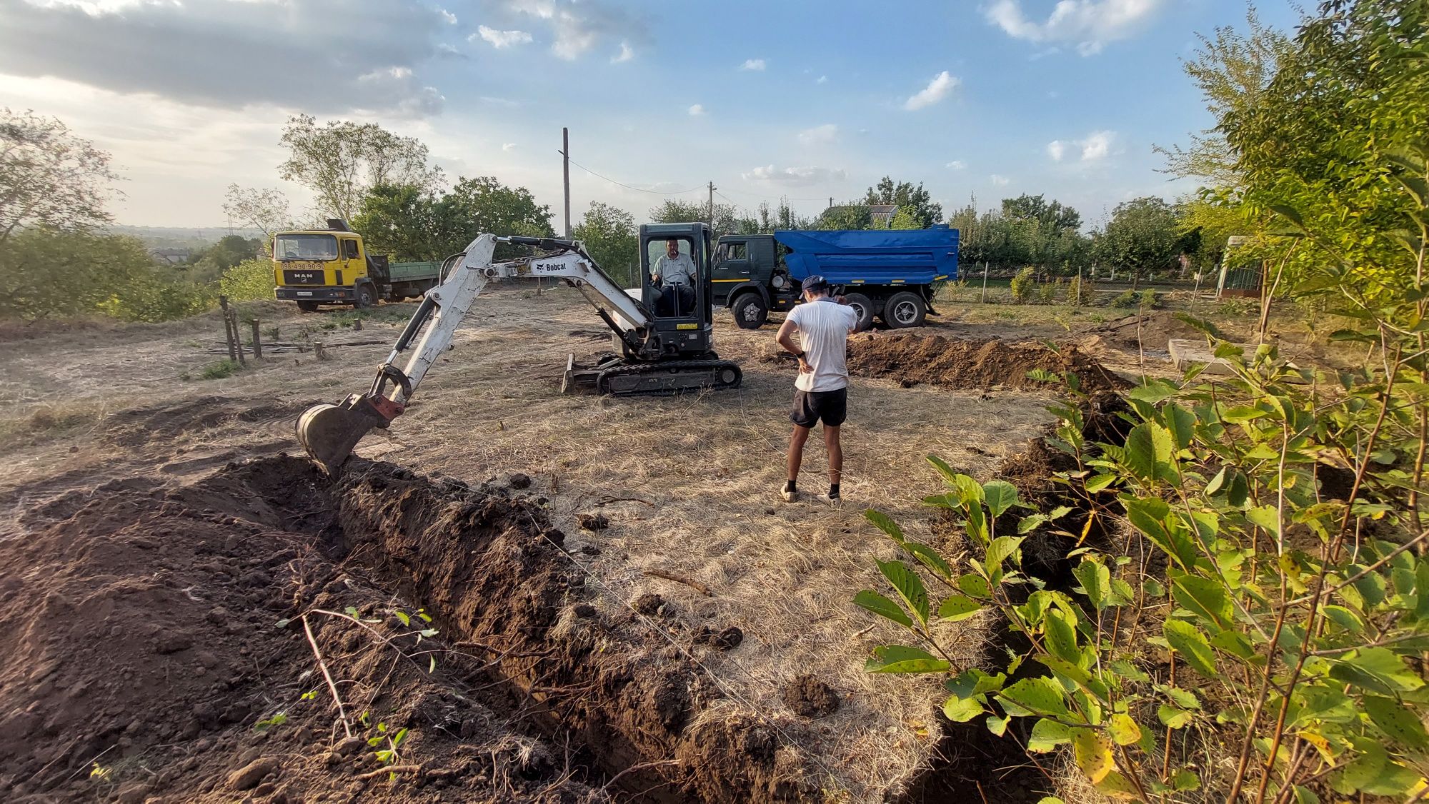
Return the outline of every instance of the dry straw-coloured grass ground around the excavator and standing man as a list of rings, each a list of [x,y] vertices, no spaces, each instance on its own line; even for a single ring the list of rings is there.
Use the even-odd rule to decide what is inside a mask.
[[[263,317],[280,331],[322,318],[276,306]],[[296,413],[366,388],[396,333],[396,324],[377,323],[362,333],[323,331],[327,343],[353,346],[333,348],[329,361],[283,356],[233,377],[187,381],[180,377],[196,377],[214,360],[204,350],[221,336],[216,318],[7,341],[0,400],[11,417],[0,436],[10,460],[0,466],[0,533],[34,533],[44,526],[36,511],[46,506],[51,518],[73,514],[63,500],[89,498],[80,496],[106,481],[140,478],[166,493],[230,461],[296,453]],[[370,340],[382,344],[359,343]],[[930,520],[919,500],[937,480],[923,457],[987,477],[1037,434],[1050,397],[986,383],[905,388],[893,378],[856,378],[845,427],[845,507],[787,506],[775,491],[793,373],[759,358],[772,340],[772,328],[739,330],[720,314],[716,347],[745,368],[736,391],[564,397],[566,354],[609,343],[599,318],[570,290],[500,288],[477,300],[409,413],[357,453],[476,487],[526,476],[526,493],[564,536],[570,571],[603,617],[634,618],[636,601],[659,596],[660,623],[672,634],[739,628],[743,640],[732,650],[699,648],[700,671],[717,681],[725,701],[702,718],[753,718],[785,735],[803,757],[802,773],[819,784],[855,801],[879,800],[905,790],[930,761],[940,725],[932,684],[862,671],[869,650],[893,634],[850,598],[880,588],[873,558],[890,558],[893,548],[860,511],[873,506],[906,530],[925,531]],[[806,488],[819,488],[820,451],[806,454]],[[577,517],[593,514],[609,527],[583,530]],[[432,603],[436,591],[413,600]],[[633,627],[664,640],[653,625]],[[960,660],[980,658],[976,625],[965,625],[957,644]],[[786,691],[807,685],[805,677],[833,691],[837,711],[806,717],[790,708]],[[120,755],[129,754],[120,748]],[[83,757],[59,760],[69,767]]]

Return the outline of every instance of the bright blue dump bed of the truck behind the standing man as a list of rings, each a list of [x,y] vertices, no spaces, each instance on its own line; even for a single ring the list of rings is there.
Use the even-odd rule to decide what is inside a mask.
[[[789,248],[785,264],[802,280],[823,274],[829,284],[932,284],[957,278],[957,230],[870,228],[776,231]]]

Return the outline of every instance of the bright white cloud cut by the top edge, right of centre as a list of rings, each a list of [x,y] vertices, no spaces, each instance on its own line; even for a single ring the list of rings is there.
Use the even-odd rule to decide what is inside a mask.
[[[1077,53],[1090,56],[1136,34],[1166,6],[1166,0],[1060,0],[1039,23],[1027,19],[1022,0],[993,0],[983,13],[1013,39],[1075,44]]]

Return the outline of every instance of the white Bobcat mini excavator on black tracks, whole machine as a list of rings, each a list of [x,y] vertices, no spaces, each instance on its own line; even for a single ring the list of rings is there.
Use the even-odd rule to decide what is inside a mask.
[[[652,261],[674,240],[696,266],[693,294],[662,287],[650,276]],[[494,263],[497,243],[544,251]],[[422,298],[416,314],[377,367],[372,388],[337,404],[317,404],[297,420],[297,440],[329,474],[352,454],[374,427],[387,427],[412,401],[427,370],[452,344],[462,318],[482,288],[503,278],[562,278],[580,288],[610,327],[617,351],[593,366],[566,361],[562,391],[602,394],[677,394],[692,390],[739,387],[739,364],[710,350],[713,294],[710,293],[710,231],[703,223],[640,227],[640,288],[622,290],[577,240],[497,237],[482,234],[466,251],[449,257],[440,284]],[[692,303],[693,301],[693,303]],[[410,353],[404,366],[397,361]]]

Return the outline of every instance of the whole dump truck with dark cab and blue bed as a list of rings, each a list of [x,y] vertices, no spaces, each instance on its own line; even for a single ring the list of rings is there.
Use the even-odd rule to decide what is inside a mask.
[[[710,271],[714,303],[756,330],[770,310],[799,303],[805,277],[820,274],[859,310],[860,328],[877,316],[890,328],[919,327],[933,310],[933,283],[957,278],[957,230],[873,228],[726,234]]]

